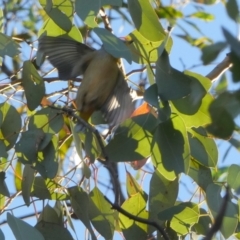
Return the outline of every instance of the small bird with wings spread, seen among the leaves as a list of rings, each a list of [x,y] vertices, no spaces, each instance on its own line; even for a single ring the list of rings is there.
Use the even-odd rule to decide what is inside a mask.
[[[103,47],[96,50],[70,38],[43,36],[39,39],[39,51],[58,69],[59,79],[83,75],[75,101],[84,120],[97,110],[110,127],[130,117],[134,110],[130,89],[118,60]]]

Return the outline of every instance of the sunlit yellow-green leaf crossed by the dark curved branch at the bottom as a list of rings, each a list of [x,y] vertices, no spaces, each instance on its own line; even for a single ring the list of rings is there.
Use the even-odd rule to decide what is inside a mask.
[[[141,193],[127,199],[121,207],[134,216],[148,219],[148,212],[145,210],[146,201]],[[125,239],[145,240],[147,238],[147,224],[135,222],[121,213],[119,214],[119,222]]]

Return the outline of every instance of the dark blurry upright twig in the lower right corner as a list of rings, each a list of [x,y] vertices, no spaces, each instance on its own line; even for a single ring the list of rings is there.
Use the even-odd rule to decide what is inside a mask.
[[[222,225],[222,221],[223,221],[223,217],[224,214],[226,212],[227,209],[227,204],[228,204],[228,200],[229,200],[229,187],[226,188],[226,195],[223,198],[223,203],[222,206],[220,208],[220,211],[218,212],[215,222],[212,225],[212,227],[209,229],[209,232],[207,233],[206,237],[204,238],[204,240],[211,240],[213,238],[213,235],[220,230],[221,225]]]

